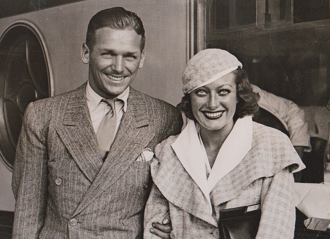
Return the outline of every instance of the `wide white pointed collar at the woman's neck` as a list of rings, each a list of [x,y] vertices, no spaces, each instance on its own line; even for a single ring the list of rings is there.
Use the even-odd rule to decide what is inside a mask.
[[[196,125],[188,120],[177,140],[171,145],[182,166],[196,182],[204,194],[205,202],[212,214],[210,192],[216,183],[232,171],[251,149],[252,117],[236,120],[233,129],[223,142],[210,171],[206,177],[205,164],[208,161],[204,146],[200,143]]]

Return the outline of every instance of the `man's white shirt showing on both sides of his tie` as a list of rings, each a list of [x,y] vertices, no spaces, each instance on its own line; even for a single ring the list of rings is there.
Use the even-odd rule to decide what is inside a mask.
[[[118,132],[121,118],[127,109],[128,95],[129,95],[129,86],[124,90],[124,92],[122,92],[120,95],[118,95],[116,97],[116,99],[119,99],[119,100],[115,101],[116,115],[117,115],[115,135]],[[103,97],[98,95],[90,87],[89,82],[87,82],[86,100],[87,100],[87,106],[88,106],[88,110],[89,110],[89,114],[90,114],[90,119],[92,121],[95,133],[97,133],[97,130],[99,128],[99,125],[100,125],[103,117],[111,110],[111,107],[107,103],[101,102],[102,99],[103,99]]]

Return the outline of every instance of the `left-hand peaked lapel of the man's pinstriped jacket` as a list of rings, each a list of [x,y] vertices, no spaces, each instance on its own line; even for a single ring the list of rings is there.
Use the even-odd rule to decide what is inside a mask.
[[[86,84],[72,91],[56,132],[90,182],[98,174],[102,160],[86,102]]]

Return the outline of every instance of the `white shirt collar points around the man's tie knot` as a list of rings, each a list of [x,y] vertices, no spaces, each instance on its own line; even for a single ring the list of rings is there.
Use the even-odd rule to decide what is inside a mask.
[[[120,94],[118,95],[115,99],[122,100],[124,102],[124,107],[123,110],[126,112],[127,110],[127,99],[129,95],[129,86]],[[93,112],[96,107],[99,105],[101,100],[103,99],[102,96],[98,95],[92,87],[90,87],[89,82],[87,82],[86,85],[86,100],[87,100],[87,105],[88,108],[90,109],[90,112]]]

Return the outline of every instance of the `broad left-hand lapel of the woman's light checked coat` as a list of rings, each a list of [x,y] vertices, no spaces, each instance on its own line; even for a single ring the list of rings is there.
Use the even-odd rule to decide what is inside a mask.
[[[174,139],[172,138],[172,140]],[[188,162],[178,159],[176,154],[178,151],[173,150],[172,143],[173,141],[171,142],[169,138],[166,142],[167,145],[160,147],[161,151],[155,152],[156,159],[151,163],[151,175],[155,185],[170,203],[205,222],[217,226],[210,213],[210,204],[205,194],[197,185],[196,177],[193,176],[194,180],[190,175],[192,167],[189,168]],[[176,147],[174,146],[174,148]],[[194,162],[190,162],[190,164],[194,164]],[[203,168],[205,168],[205,164]],[[200,168],[198,171],[200,171]],[[192,175],[194,174],[192,173]]]

